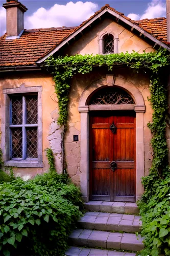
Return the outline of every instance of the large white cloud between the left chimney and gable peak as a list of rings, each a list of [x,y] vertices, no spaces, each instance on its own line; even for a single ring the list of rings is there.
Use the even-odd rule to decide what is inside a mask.
[[[31,16],[26,16],[25,28],[50,28],[78,26],[98,10],[92,2],[68,2],[66,5],[55,4],[50,9],[39,8]]]

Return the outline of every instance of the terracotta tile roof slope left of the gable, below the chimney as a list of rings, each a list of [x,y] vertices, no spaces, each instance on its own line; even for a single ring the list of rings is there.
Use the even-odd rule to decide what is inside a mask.
[[[32,66],[56,47],[75,27],[25,30],[19,39],[0,38],[0,66]]]

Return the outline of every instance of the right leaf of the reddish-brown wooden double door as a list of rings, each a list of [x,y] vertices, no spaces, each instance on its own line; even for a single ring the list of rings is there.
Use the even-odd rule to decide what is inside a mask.
[[[114,137],[114,161],[123,162],[117,165],[114,172],[114,200],[135,201],[135,117],[117,117]]]

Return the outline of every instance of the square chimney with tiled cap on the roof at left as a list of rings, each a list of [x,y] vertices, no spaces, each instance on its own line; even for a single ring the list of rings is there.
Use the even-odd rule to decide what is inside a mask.
[[[3,7],[7,10],[7,37],[19,38],[24,29],[24,13],[28,10],[18,0],[6,0]]]

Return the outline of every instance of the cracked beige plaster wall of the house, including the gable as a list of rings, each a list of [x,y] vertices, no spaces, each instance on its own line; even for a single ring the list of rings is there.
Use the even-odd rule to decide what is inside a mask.
[[[133,35],[127,29],[119,24],[112,22],[111,19],[105,19],[100,25],[91,29],[90,32],[83,34],[79,41],[74,45],[65,49],[68,54],[85,54],[99,53],[98,34],[99,32],[114,30],[118,34],[118,51],[132,52],[135,50],[142,53],[153,51],[146,42],[139,37]],[[144,113],[144,171],[148,174],[148,169],[152,163],[152,150],[150,148],[151,132],[147,127],[147,123],[152,121],[152,109],[147,97],[149,92],[149,77],[145,74],[133,73],[129,69],[115,69],[108,72],[105,68],[94,68],[94,71],[87,75],[76,75],[71,81],[70,102],[68,106],[68,130],[65,136],[65,155],[67,163],[67,171],[72,181],[80,185],[80,113],[78,111],[79,100],[82,92],[96,80],[106,77],[106,74],[114,73],[115,76],[124,78],[132,82],[141,92],[146,110]],[[20,87],[25,83],[26,87],[42,86],[42,150],[43,150],[43,168],[15,168],[15,175],[23,178],[32,178],[36,174],[47,172],[48,164],[45,156],[45,148],[51,147],[55,154],[56,167],[61,173],[61,127],[57,124],[58,104],[54,90],[54,81],[51,75],[43,74],[43,72],[16,72],[14,74],[5,73],[1,78],[0,100],[2,102],[2,90],[7,88]],[[1,115],[3,113],[1,112]],[[79,135],[79,141],[73,141],[73,135]],[[3,134],[2,134],[3,136]]]

